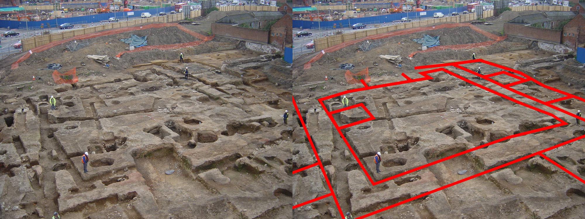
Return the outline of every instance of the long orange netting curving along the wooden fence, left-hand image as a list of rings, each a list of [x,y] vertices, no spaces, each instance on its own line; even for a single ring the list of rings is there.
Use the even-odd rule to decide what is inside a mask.
[[[144,30],[144,29],[160,28],[160,27],[173,27],[173,26],[176,26],[178,29],[183,30],[185,33],[188,33],[191,36],[194,36],[195,38],[203,40],[203,41],[209,41],[209,40],[214,39],[214,36],[206,37],[203,34],[194,32],[192,30],[188,30],[187,28],[185,28],[181,25],[178,25],[177,23],[151,23],[149,25],[144,25],[144,26],[109,29],[109,30],[104,30],[101,32],[94,32],[94,33],[88,33],[88,34],[83,34],[83,35],[79,35],[79,36],[74,36],[74,37],[71,37],[69,39],[54,41],[51,43],[44,44],[43,46],[35,47],[32,50],[29,50],[28,53],[26,53],[25,55],[20,57],[18,60],[13,62],[11,69],[18,68],[18,64],[20,64],[20,62],[27,60],[27,58],[29,58],[30,55],[33,53],[40,53],[40,52],[48,50],[49,48],[52,48],[54,46],[57,46],[57,45],[60,45],[63,43],[67,43],[68,41],[71,41],[71,40],[85,40],[85,39],[91,39],[91,38],[100,37],[100,36],[109,36],[109,35],[118,34],[118,33],[131,32],[131,31],[135,31],[135,30]]]

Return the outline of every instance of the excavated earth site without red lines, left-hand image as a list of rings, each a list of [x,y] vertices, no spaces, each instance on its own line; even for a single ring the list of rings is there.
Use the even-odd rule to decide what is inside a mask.
[[[128,29],[2,61],[0,218],[291,218],[290,64],[209,24]]]

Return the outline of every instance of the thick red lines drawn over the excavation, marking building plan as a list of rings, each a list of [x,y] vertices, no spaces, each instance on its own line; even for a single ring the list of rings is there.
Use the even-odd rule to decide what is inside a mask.
[[[471,69],[468,69],[468,68],[462,66],[464,64],[473,64],[473,63],[491,65],[492,67],[500,68],[501,71],[497,71],[497,72],[492,73],[492,74],[482,75],[482,74],[478,74],[476,71],[473,71]],[[459,75],[459,74],[457,74],[455,72],[452,72],[449,69],[446,69],[445,67],[453,67],[453,68],[457,68],[457,69],[463,70],[463,71],[465,71],[465,72],[467,72],[469,74],[474,75],[475,77],[481,78],[482,81],[490,82],[491,84],[497,85],[500,88],[503,88],[503,89],[505,89],[507,91],[510,91],[512,93],[515,93],[516,95],[522,96],[522,97],[524,97],[524,98],[526,98],[528,100],[532,100],[532,101],[536,102],[538,105],[542,105],[542,106],[549,107],[550,109],[554,109],[554,110],[556,110],[556,112],[554,110],[549,110],[551,112],[548,112],[546,110],[541,109],[541,108],[546,108],[546,107],[541,107],[541,108],[535,107],[535,106],[529,105],[528,103],[522,102],[522,101],[518,100],[517,98],[511,97],[511,96],[507,96],[507,95],[504,95],[503,93],[494,91],[493,89],[487,88],[487,86],[481,85],[478,82],[474,82],[471,79],[468,79],[468,78],[466,78],[466,77],[464,77],[462,75]],[[581,117],[577,117],[572,112],[567,112],[565,109],[561,109],[558,106],[552,105],[553,103],[556,103],[556,102],[559,102],[559,101],[562,101],[562,100],[567,100],[567,99],[575,99],[575,100],[579,100],[579,101],[585,102],[585,99],[584,98],[581,98],[579,96],[573,95],[571,93],[567,93],[565,91],[560,91],[559,89],[556,89],[556,88],[552,88],[552,87],[550,87],[548,85],[545,85],[542,82],[540,82],[540,81],[538,81],[538,80],[530,77],[529,75],[525,74],[524,72],[517,71],[515,69],[511,69],[511,68],[505,67],[503,65],[498,65],[498,64],[495,64],[493,62],[488,62],[486,60],[481,60],[480,59],[480,60],[467,60],[467,61],[459,61],[459,62],[449,62],[449,63],[435,64],[435,65],[424,65],[424,66],[415,67],[415,69],[428,69],[428,70],[419,72],[418,74],[422,76],[420,78],[411,78],[411,77],[408,77],[408,75],[402,73],[402,77],[405,78],[404,81],[397,81],[397,82],[392,82],[392,83],[388,83],[388,84],[381,84],[381,85],[369,86],[365,82],[362,81],[362,84],[364,85],[363,88],[350,89],[350,90],[347,90],[347,91],[335,93],[333,95],[325,96],[323,98],[319,98],[318,99],[319,103],[322,106],[322,109],[329,116],[329,119],[331,120],[331,122],[333,124],[333,127],[335,127],[335,129],[338,131],[340,137],[345,142],[345,144],[347,146],[347,149],[351,152],[351,154],[353,155],[353,157],[357,161],[357,164],[362,169],[362,172],[364,173],[364,175],[366,176],[366,178],[369,180],[369,182],[373,186],[379,185],[380,183],[388,182],[389,180],[393,180],[393,179],[399,178],[400,176],[404,176],[404,175],[407,175],[407,174],[412,173],[412,172],[419,171],[421,169],[427,168],[428,166],[432,166],[432,165],[438,164],[438,163],[443,162],[443,161],[446,161],[448,159],[456,158],[456,157],[459,157],[460,155],[463,155],[463,154],[466,154],[466,153],[469,153],[469,152],[472,152],[472,151],[479,150],[480,148],[486,148],[486,147],[488,147],[490,145],[493,145],[493,144],[496,144],[498,142],[510,140],[511,138],[519,137],[519,136],[522,136],[522,135],[527,135],[527,134],[532,134],[532,133],[538,133],[540,131],[550,130],[550,129],[553,129],[553,128],[556,128],[556,127],[561,127],[561,126],[568,125],[569,123],[567,123],[565,120],[560,119],[557,116],[559,114],[559,112],[560,113],[563,113],[563,114],[566,114],[568,117],[572,117],[572,118],[575,118],[575,119],[579,119],[581,121],[585,121],[585,119],[583,119]],[[402,172],[402,173],[398,173],[397,175],[390,176],[388,178],[381,179],[381,180],[377,180],[377,181],[374,180],[372,178],[372,176],[370,176],[370,173],[365,168],[365,166],[362,163],[361,159],[357,156],[356,152],[353,150],[353,148],[351,147],[351,145],[347,141],[347,138],[342,133],[342,130],[345,129],[345,128],[352,127],[352,126],[356,126],[358,124],[365,123],[366,121],[375,120],[376,118],[373,116],[373,114],[371,114],[369,112],[369,110],[365,107],[365,105],[363,103],[358,103],[356,105],[344,107],[342,109],[337,109],[337,110],[333,110],[333,111],[329,112],[328,107],[325,106],[325,101],[326,100],[329,100],[329,99],[333,99],[333,98],[338,98],[339,96],[343,96],[343,95],[346,95],[348,93],[355,93],[355,92],[360,92],[360,91],[368,91],[370,89],[377,89],[377,88],[384,88],[384,87],[388,87],[388,86],[403,85],[403,84],[409,84],[409,83],[413,83],[413,82],[426,81],[426,80],[429,80],[429,79],[433,79],[433,77],[431,77],[429,74],[436,73],[436,72],[445,72],[446,74],[452,75],[453,77],[455,77],[457,79],[460,79],[462,81],[465,81],[465,82],[467,82],[467,83],[469,83],[469,84],[471,84],[473,86],[477,86],[478,88],[481,88],[481,89],[483,89],[485,91],[488,91],[488,92],[491,92],[491,93],[493,93],[495,95],[498,95],[501,98],[510,100],[510,101],[512,101],[514,103],[517,103],[518,105],[521,105],[521,106],[527,107],[529,109],[535,110],[535,111],[537,111],[539,113],[546,114],[547,116],[550,116],[553,119],[559,121],[559,123],[553,124],[552,126],[546,126],[546,127],[542,127],[542,128],[537,128],[535,130],[525,131],[523,133],[509,135],[507,137],[503,137],[503,138],[500,138],[498,140],[494,140],[494,141],[488,142],[487,144],[479,145],[477,147],[470,148],[469,150],[465,150],[465,151],[462,151],[462,152],[458,152],[456,154],[453,154],[453,155],[450,155],[448,157],[439,159],[437,161],[433,161],[433,162],[430,162],[428,164],[425,164],[425,165],[422,165],[422,166],[418,166],[417,168],[409,169],[408,171],[405,171],[405,172]],[[493,77],[511,77],[511,78],[514,78],[517,81],[510,82],[509,84],[501,84],[500,82],[495,81],[495,79],[493,79]],[[526,82],[531,82],[531,83],[534,83],[536,85],[539,85],[542,88],[547,89],[548,92],[556,92],[556,93],[558,93],[558,95],[560,96],[560,98],[552,99],[552,100],[542,100],[542,99],[536,98],[536,97],[531,96],[531,95],[528,95],[526,93],[522,93],[522,92],[517,91],[514,88],[512,88],[515,85],[524,84]],[[522,98],[522,99],[524,100],[524,98]],[[295,102],[294,98],[293,98],[292,102],[294,103],[295,109],[297,110],[297,114],[300,115],[300,110],[298,109],[297,103]],[[343,112],[345,110],[352,110],[352,109],[358,109],[358,108],[364,110],[369,115],[369,117],[367,119],[363,119],[363,120],[360,120],[360,121],[355,121],[353,123],[343,124],[343,125],[338,124],[337,121],[333,118],[333,115],[334,114]],[[307,136],[310,136],[309,135],[309,132],[308,132],[308,129],[307,129],[307,126],[305,125],[304,121],[302,121],[302,117],[300,117],[300,119],[301,119],[301,124],[302,124],[302,126],[303,126],[303,128],[305,130],[305,134],[307,134]],[[389,210],[391,208],[400,206],[402,204],[405,204],[405,203],[408,203],[410,201],[419,199],[421,197],[428,196],[429,194],[438,192],[440,190],[446,189],[446,188],[451,187],[451,186],[455,186],[455,185],[457,185],[459,183],[466,182],[467,180],[470,180],[470,179],[473,179],[473,178],[477,178],[478,176],[485,175],[485,174],[490,173],[490,172],[493,172],[493,171],[497,171],[498,169],[504,168],[506,166],[509,166],[509,165],[512,165],[512,164],[515,164],[517,162],[524,161],[526,159],[533,158],[533,157],[542,157],[542,158],[546,159],[547,161],[549,161],[550,163],[552,163],[553,165],[558,166],[560,169],[562,169],[563,171],[565,171],[569,175],[573,176],[575,179],[579,180],[580,182],[585,183],[585,180],[584,179],[582,179],[579,176],[577,176],[576,174],[570,172],[569,170],[567,170],[566,168],[564,168],[563,166],[561,166],[560,164],[558,164],[557,162],[553,161],[552,159],[546,157],[546,155],[543,154],[543,153],[545,153],[547,151],[553,150],[555,148],[562,147],[563,145],[570,144],[570,143],[572,143],[574,141],[577,141],[577,140],[580,140],[582,138],[585,138],[585,135],[581,135],[579,137],[572,138],[572,139],[567,140],[567,141],[564,141],[564,142],[559,142],[559,144],[556,144],[556,145],[554,145],[552,147],[545,148],[545,149],[543,149],[541,151],[536,151],[536,152],[534,152],[532,154],[529,154],[529,155],[526,155],[524,157],[515,159],[513,161],[507,162],[507,163],[502,164],[502,165],[499,165],[499,166],[495,166],[494,168],[487,169],[486,171],[483,171],[483,172],[480,172],[480,173],[476,173],[475,175],[468,176],[467,178],[463,178],[463,179],[457,180],[455,182],[449,183],[448,185],[441,186],[441,187],[438,187],[436,189],[430,190],[428,192],[424,192],[424,193],[418,194],[417,196],[411,197],[409,199],[400,201],[400,202],[395,203],[395,204],[391,204],[390,206],[383,207],[383,208],[378,209],[376,211],[372,211],[371,213],[367,213],[367,214],[364,214],[364,215],[360,215],[359,217],[355,217],[355,218],[356,219],[361,219],[361,218],[370,217],[370,216],[372,216],[374,214],[381,213],[381,212],[386,211],[386,210]],[[293,174],[296,174],[296,173],[305,171],[305,170],[307,170],[309,168],[312,168],[314,166],[319,166],[319,168],[321,169],[321,171],[323,173],[323,176],[325,178],[325,183],[327,183],[327,185],[329,187],[330,193],[329,194],[325,194],[324,196],[321,196],[321,197],[317,197],[317,198],[312,199],[312,200],[307,200],[307,201],[305,201],[303,203],[300,203],[300,204],[297,204],[297,205],[293,206],[292,208],[293,209],[294,208],[298,208],[298,207],[301,207],[301,206],[304,206],[304,205],[313,203],[314,201],[318,201],[318,200],[321,200],[321,199],[324,199],[326,197],[331,196],[333,198],[333,200],[335,201],[335,204],[336,204],[336,206],[337,206],[337,208],[339,210],[340,217],[343,217],[343,215],[344,215],[343,212],[344,211],[342,211],[342,208],[339,205],[339,201],[336,198],[335,193],[333,192],[333,189],[332,189],[333,187],[332,187],[331,182],[329,181],[329,179],[328,179],[328,177],[327,177],[327,175],[325,173],[324,165],[322,164],[321,159],[318,156],[318,153],[316,151],[314,142],[312,141],[311,137],[308,138],[308,141],[309,141],[309,144],[312,147],[312,150],[313,150],[313,152],[315,154],[315,157],[317,159],[317,162],[315,164],[312,164],[312,165],[305,166],[303,168],[297,169],[297,170],[293,171],[292,173]]]

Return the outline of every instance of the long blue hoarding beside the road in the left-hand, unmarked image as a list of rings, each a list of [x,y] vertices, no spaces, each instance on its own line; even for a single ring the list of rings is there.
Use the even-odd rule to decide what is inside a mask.
[[[17,20],[0,20],[0,28],[9,28],[9,29],[18,29],[19,27],[22,29],[24,27],[47,27],[50,25],[51,27],[55,27],[57,25],[61,25],[63,23],[99,23],[102,20],[108,20],[109,18],[117,17],[117,18],[139,18],[140,13],[150,12],[153,16],[158,16],[159,12],[171,12],[174,10],[174,7],[167,7],[167,8],[156,8],[156,9],[146,9],[146,10],[138,10],[138,11],[131,11],[130,15],[129,12],[116,12],[116,13],[101,13],[101,14],[92,14],[87,16],[79,16],[73,18],[59,18],[59,19],[52,19],[52,20],[42,20],[42,21],[17,21]],[[133,15],[132,15],[133,13]]]

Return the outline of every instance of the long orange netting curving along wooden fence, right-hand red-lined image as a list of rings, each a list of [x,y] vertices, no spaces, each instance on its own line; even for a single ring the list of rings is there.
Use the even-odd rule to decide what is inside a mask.
[[[470,27],[472,30],[475,30],[476,32],[483,34],[484,36],[486,36],[490,39],[496,40],[496,41],[501,41],[501,40],[506,39],[506,36],[498,37],[493,33],[489,33],[489,32],[486,32],[484,30],[481,30],[481,29],[477,28],[476,26],[473,26],[469,23],[443,23],[441,25],[436,25],[436,26],[415,27],[415,28],[396,30],[393,32],[380,33],[380,34],[372,35],[369,37],[364,37],[362,39],[357,39],[357,40],[347,41],[345,43],[340,43],[340,44],[337,44],[335,46],[325,48],[324,50],[319,52],[319,54],[315,55],[315,57],[311,58],[311,60],[309,60],[307,63],[305,63],[303,68],[304,69],[311,68],[311,64],[313,64],[313,62],[320,60],[323,57],[323,55],[325,55],[326,53],[332,53],[334,51],[338,51],[342,48],[345,48],[345,47],[350,46],[352,44],[359,43],[359,42],[364,41],[364,40],[378,40],[378,39],[384,39],[384,38],[388,38],[388,37],[392,37],[392,36],[402,36],[405,34],[423,32],[426,30],[437,30],[437,29],[455,28],[455,27]],[[434,48],[434,47],[432,47],[432,48]],[[429,51],[429,50],[426,50],[426,51]]]

